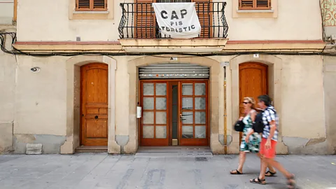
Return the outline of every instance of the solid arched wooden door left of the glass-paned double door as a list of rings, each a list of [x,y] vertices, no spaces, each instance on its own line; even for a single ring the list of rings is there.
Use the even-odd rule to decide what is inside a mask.
[[[80,143],[84,146],[107,146],[108,140],[108,66],[86,64],[81,71]]]

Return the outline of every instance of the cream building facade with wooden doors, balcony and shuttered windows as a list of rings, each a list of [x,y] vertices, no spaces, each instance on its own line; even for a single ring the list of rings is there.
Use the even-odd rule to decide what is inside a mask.
[[[335,69],[321,54],[320,1],[193,2],[202,32],[176,39],[160,33],[152,0],[18,0],[6,72],[13,122],[1,126],[13,152],[42,144],[62,154],[175,145],[239,153],[232,125],[242,98],[269,94],[277,153],[334,154]]]

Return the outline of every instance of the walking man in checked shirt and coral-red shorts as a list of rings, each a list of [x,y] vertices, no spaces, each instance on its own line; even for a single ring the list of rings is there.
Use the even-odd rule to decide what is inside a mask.
[[[278,141],[279,118],[274,107],[271,105],[271,102],[271,98],[267,95],[261,95],[258,97],[258,105],[260,109],[264,110],[262,113],[262,122],[264,123],[265,128],[262,132],[260,144],[260,154],[262,155],[262,158],[260,159],[260,175],[257,179],[251,179],[250,182],[265,185],[265,172],[267,166],[270,165],[275,169],[278,169],[283,176],[286,176],[286,179],[288,180],[287,188],[295,188],[294,175],[290,174],[290,172],[284,169],[279,162],[274,160],[276,142]]]

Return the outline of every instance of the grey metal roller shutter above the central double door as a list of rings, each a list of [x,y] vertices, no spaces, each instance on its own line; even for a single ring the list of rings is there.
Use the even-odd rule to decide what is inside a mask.
[[[155,64],[139,68],[139,78],[209,78],[209,67],[194,64]]]

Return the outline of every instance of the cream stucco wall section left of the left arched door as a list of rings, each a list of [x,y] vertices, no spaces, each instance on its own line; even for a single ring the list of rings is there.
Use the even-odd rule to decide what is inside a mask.
[[[65,59],[18,56],[14,134],[65,136]],[[32,72],[34,66],[41,71]]]

